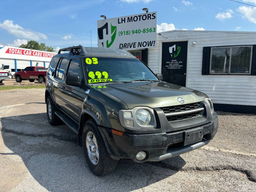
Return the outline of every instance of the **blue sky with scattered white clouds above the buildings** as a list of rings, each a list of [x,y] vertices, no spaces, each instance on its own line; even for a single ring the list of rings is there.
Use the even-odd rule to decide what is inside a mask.
[[[256,0],[237,0],[256,6]],[[0,0],[0,44],[19,46],[29,40],[54,49],[97,46],[97,20],[157,12],[157,32],[173,29],[256,31],[256,7],[230,0]]]

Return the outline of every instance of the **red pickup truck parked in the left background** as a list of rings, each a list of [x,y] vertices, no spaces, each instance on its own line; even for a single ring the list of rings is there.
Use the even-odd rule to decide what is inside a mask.
[[[39,83],[44,83],[46,73],[47,69],[45,67],[26,67],[24,70],[18,71],[14,75],[18,83],[20,83],[22,80],[34,82],[35,79],[38,80]]]

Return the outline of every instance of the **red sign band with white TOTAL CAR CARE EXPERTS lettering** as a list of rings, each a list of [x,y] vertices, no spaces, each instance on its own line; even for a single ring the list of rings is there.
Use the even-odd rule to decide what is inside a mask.
[[[47,53],[47,52],[31,51],[31,50],[24,50],[24,49],[15,49],[15,48],[8,48],[5,53],[38,56],[38,57],[49,57],[49,58],[52,58],[54,55],[57,54],[57,53]]]

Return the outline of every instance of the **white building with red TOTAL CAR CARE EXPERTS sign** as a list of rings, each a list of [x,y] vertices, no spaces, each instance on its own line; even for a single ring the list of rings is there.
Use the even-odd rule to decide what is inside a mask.
[[[45,52],[18,47],[0,45],[0,67],[2,64],[10,65],[12,75],[16,71],[21,71],[28,66],[38,66],[48,68],[54,52]]]

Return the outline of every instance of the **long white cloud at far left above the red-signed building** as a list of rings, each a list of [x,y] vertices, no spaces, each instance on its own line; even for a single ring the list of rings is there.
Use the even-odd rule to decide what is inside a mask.
[[[31,29],[24,29],[18,24],[13,24],[12,20],[4,20],[3,23],[0,22],[0,28],[5,29],[10,34],[13,34],[16,37],[40,40],[47,39],[48,37],[43,33],[32,31]]]

